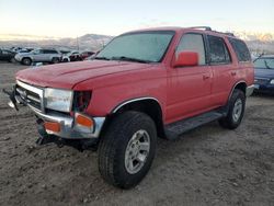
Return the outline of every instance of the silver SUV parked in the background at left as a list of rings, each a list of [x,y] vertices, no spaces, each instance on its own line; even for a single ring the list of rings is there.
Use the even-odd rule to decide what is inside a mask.
[[[39,48],[31,53],[16,54],[14,58],[23,65],[32,65],[32,62],[57,64],[61,60],[61,54],[54,48]]]

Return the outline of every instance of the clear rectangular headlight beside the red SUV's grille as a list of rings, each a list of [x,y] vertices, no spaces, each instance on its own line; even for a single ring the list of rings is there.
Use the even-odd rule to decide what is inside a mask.
[[[73,92],[47,88],[45,90],[45,107],[60,112],[70,112]]]

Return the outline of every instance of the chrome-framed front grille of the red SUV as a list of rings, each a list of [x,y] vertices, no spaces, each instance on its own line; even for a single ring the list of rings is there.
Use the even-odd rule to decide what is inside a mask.
[[[22,82],[18,82],[16,92],[19,93],[20,98],[23,100],[24,103],[35,107],[38,111],[43,111],[42,89]]]

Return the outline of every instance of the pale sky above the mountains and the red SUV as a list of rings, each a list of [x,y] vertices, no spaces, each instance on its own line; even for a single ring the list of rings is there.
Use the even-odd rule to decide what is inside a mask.
[[[118,35],[156,26],[274,33],[274,0],[0,0],[0,39]]]

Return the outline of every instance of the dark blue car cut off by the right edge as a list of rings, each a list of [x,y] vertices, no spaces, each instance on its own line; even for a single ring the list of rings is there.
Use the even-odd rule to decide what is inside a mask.
[[[274,94],[274,55],[264,55],[254,60],[255,92]]]

